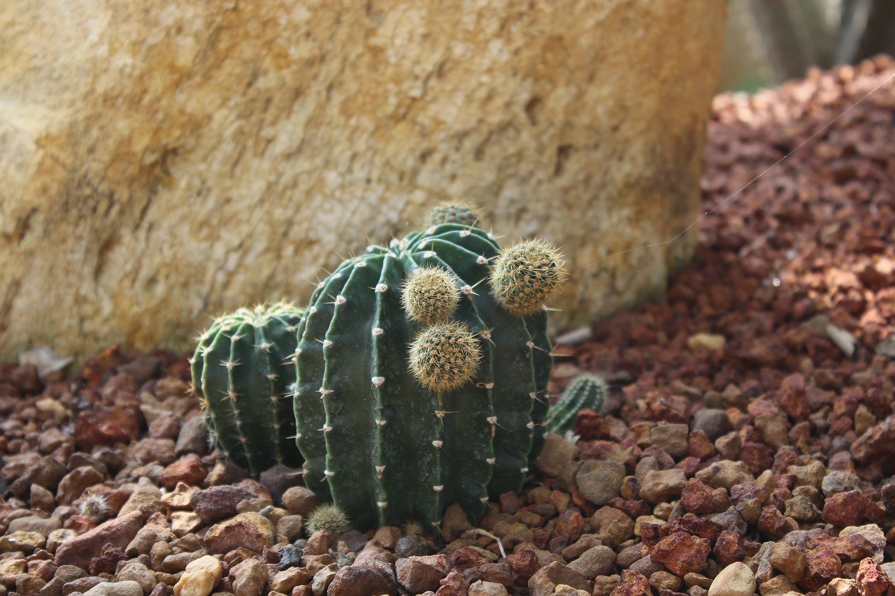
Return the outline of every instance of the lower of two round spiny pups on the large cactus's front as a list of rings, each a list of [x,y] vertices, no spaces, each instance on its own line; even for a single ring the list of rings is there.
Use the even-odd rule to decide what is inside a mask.
[[[463,387],[473,378],[482,349],[463,323],[449,322],[422,330],[410,346],[410,370],[431,391]]]

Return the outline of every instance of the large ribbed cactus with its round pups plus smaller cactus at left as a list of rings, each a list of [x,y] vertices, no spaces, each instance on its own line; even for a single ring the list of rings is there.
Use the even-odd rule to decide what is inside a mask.
[[[437,527],[452,503],[474,519],[519,490],[543,444],[545,303],[564,271],[550,244],[500,251],[476,222],[444,206],[345,260],[306,311],[217,319],[193,358],[217,448],[252,474],[303,460],[305,485],[360,529]]]

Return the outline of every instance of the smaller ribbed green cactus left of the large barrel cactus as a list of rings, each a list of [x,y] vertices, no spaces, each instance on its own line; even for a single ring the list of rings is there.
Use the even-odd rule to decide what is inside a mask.
[[[192,356],[209,440],[252,476],[274,464],[302,464],[291,399],[302,317],[286,303],[240,309],[216,319]]]

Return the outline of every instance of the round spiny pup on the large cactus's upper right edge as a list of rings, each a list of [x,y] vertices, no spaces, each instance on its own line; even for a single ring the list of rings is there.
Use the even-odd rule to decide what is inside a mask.
[[[533,314],[558,294],[566,279],[562,255],[550,243],[525,240],[500,251],[491,268],[495,299],[517,317]]]

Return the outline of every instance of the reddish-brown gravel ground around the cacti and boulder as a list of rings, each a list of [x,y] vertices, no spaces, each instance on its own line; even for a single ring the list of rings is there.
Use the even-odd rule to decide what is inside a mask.
[[[209,453],[185,355],[0,365],[0,596],[895,592],[893,74],[715,98],[695,260],[556,346],[554,394],[613,395],[484,532],[308,536],[294,474]]]

